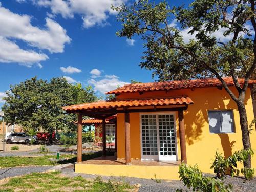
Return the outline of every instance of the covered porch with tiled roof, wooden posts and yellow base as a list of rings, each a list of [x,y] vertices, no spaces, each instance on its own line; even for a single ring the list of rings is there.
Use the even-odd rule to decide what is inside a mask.
[[[184,129],[184,110],[188,108],[193,101],[189,97],[176,97],[165,99],[140,99],[140,100],[110,100],[99,101],[95,103],[86,103],[81,105],[68,106],[64,108],[68,113],[78,114],[77,124],[77,164],[75,164],[75,172],[98,174],[98,175],[113,175],[113,176],[129,176],[139,178],[154,178],[154,174],[159,179],[178,179],[179,164],[186,158],[185,144],[185,129]],[[142,158],[131,157],[131,114],[133,113],[178,113],[179,124],[179,141],[180,141],[180,158],[169,161],[168,159],[143,161]],[[106,156],[106,119],[114,114],[122,114],[124,118],[124,126],[119,123],[119,129],[124,131],[125,158],[115,156]],[[82,161],[82,118],[89,116],[102,120],[102,157]],[[120,118],[119,118],[120,119]],[[123,126],[123,127],[121,127]],[[116,135],[118,135],[116,130]],[[176,134],[176,133],[175,133]],[[118,137],[116,137],[118,138]],[[119,150],[118,141],[117,151]],[[121,142],[120,142],[121,143]],[[159,142],[158,142],[159,144]],[[123,147],[123,146],[122,146]],[[138,147],[142,147],[138,146]],[[177,148],[177,146],[176,146]],[[177,151],[176,151],[177,152]],[[158,152],[159,153],[159,152]],[[142,154],[142,152],[141,152]],[[160,154],[160,153],[159,153]],[[177,157],[177,154],[176,154]],[[172,174],[170,174],[172,173]]]

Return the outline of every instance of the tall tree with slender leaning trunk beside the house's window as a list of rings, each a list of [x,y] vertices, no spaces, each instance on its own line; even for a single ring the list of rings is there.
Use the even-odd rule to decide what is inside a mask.
[[[256,66],[254,0],[195,0],[188,8],[139,0],[112,8],[122,22],[117,35],[138,35],[145,42],[140,66],[153,70],[153,76],[159,80],[217,77],[221,81],[237,103],[243,146],[250,148],[244,99]],[[182,30],[194,37],[184,40]],[[224,76],[232,76],[237,93],[229,89]],[[244,78],[243,84],[239,77]],[[251,157],[244,166],[251,167]]]

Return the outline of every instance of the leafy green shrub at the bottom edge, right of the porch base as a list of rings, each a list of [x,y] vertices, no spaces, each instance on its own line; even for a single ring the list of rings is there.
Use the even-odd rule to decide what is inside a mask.
[[[219,178],[206,177],[198,169],[196,164],[194,167],[187,166],[184,162],[179,166],[180,180],[183,181],[187,188],[192,188],[193,191],[219,191],[219,192],[230,192],[232,186],[225,185]],[[176,192],[182,191],[177,189]]]

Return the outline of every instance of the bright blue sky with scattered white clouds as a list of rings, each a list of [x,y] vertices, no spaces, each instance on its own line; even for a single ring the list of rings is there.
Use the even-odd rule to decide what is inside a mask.
[[[0,99],[10,84],[34,76],[65,76],[99,95],[131,79],[153,81],[139,67],[143,42],[115,35],[121,24],[109,7],[122,1],[0,0]]]

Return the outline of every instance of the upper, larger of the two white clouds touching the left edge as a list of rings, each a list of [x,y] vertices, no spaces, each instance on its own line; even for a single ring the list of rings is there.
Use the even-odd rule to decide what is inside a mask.
[[[19,15],[0,7],[0,36],[17,38],[28,42],[33,47],[47,49],[51,53],[62,53],[71,39],[57,22],[46,18],[46,29],[31,25],[31,17]]]

